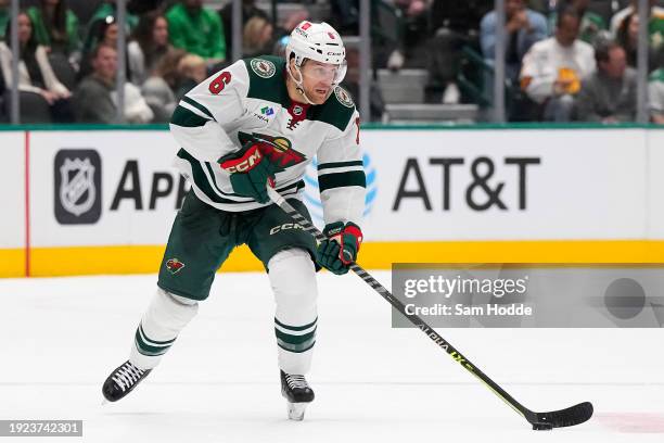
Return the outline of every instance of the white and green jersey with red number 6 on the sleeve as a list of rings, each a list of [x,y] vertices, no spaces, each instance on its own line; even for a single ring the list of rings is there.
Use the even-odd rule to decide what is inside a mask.
[[[325,223],[359,223],[366,178],[355,103],[341,87],[321,105],[293,102],[285,75],[283,59],[240,60],[189,91],[170,121],[182,148],[176,166],[212,206],[231,212],[263,207],[233,193],[218,160],[239,151],[250,137],[267,139],[282,147],[268,155],[283,168],[276,176],[282,195],[301,197],[307,165],[318,155]]]

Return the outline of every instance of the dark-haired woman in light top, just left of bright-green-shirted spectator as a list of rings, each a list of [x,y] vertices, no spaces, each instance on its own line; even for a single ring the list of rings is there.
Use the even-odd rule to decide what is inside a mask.
[[[142,85],[159,61],[174,48],[168,42],[168,22],[157,12],[141,15],[127,46],[131,80]]]

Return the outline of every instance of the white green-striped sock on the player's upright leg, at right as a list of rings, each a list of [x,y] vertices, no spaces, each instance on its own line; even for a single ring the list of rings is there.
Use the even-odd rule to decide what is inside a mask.
[[[279,368],[288,374],[305,375],[311,367],[316,343],[316,268],[307,251],[280,251],[268,263],[274,292]]]

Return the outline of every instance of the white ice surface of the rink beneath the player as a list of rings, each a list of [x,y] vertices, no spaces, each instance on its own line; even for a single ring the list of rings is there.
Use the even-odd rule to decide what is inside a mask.
[[[303,422],[286,420],[261,274],[220,274],[161,366],[102,406],[155,280],[0,279],[0,419],[82,419],[82,439],[56,440],[77,442],[664,442],[662,330],[438,330],[531,409],[595,404],[585,425],[535,432],[352,275],[319,275]]]

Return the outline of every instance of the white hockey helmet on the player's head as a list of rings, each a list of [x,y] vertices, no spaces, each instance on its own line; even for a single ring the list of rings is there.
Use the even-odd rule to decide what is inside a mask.
[[[341,36],[327,23],[304,21],[293,29],[285,49],[286,62],[295,59],[297,71],[305,60],[330,63],[339,66],[334,85],[339,85],[346,76],[346,50]],[[302,79],[302,76],[301,76]],[[301,81],[296,81],[298,85]]]

